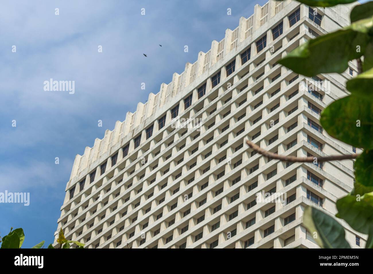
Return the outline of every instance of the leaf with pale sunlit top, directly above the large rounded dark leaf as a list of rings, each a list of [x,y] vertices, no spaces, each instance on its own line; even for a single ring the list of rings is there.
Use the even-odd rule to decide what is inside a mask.
[[[347,81],[346,88],[352,94],[373,100],[373,69],[360,73],[355,78]]]

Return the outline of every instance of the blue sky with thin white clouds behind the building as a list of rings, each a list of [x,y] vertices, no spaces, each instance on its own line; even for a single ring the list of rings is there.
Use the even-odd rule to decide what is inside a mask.
[[[25,248],[53,242],[75,155],[103,138],[150,92],[159,92],[162,82],[171,82],[186,62],[194,63],[211,41],[222,40],[241,16],[253,14],[255,4],[266,3],[1,2],[0,192],[29,192],[30,205],[1,203],[0,235],[22,227]],[[43,82],[50,78],[75,81],[75,94],[44,91]]]

